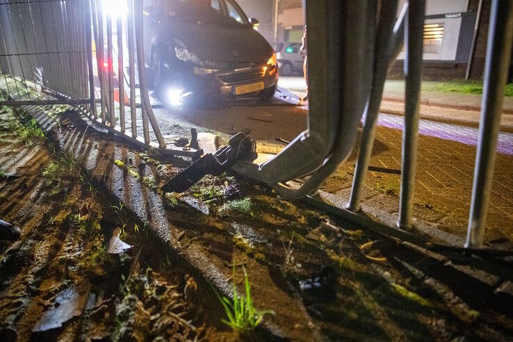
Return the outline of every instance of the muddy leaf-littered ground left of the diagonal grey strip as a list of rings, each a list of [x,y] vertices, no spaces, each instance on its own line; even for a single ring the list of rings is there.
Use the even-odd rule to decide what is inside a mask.
[[[0,241],[0,341],[236,340],[213,314],[222,309],[211,288],[144,223],[78,168],[45,176],[60,156],[13,132],[12,111],[0,115],[0,217],[22,227],[19,241]],[[133,247],[108,254],[117,227]]]

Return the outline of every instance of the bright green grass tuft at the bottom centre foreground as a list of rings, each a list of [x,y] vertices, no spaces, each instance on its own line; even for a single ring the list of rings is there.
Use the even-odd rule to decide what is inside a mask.
[[[227,319],[222,318],[222,323],[225,323],[234,332],[238,333],[247,333],[251,332],[254,328],[256,328],[261,321],[263,320],[263,316],[266,314],[275,314],[272,310],[259,310],[254,307],[253,298],[251,296],[251,284],[250,279],[247,277],[247,272],[245,268],[244,271],[244,285],[245,285],[245,294],[239,295],[237,291],[237,285],[235,280],[232,282],[233,300],[223,296],[221,297],[217,292],[215,293],[222,307],[225,308],[225,314]],[[235,279],[235,264],[233,269],[232,279]]]

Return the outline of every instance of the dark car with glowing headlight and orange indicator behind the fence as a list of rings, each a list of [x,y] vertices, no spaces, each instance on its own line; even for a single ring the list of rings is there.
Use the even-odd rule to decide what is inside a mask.
[[[234,0],[147,0],[145,56],[162,98],[273,97],[278,63]]]

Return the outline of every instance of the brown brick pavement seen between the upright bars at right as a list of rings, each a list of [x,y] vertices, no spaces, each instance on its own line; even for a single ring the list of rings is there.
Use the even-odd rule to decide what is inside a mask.
[[[511,148],[511,145],[510,145]],[[414,217],[425,225],[465,236],[469,217],[475,161],[475,146],[436,136],[420,136]],[[401,134],[380,126],[370,165],[400,168]],[[349,198],[356,153],[335,175],[337,195]],[[513,156],[498,154],[487,218],[487,241],[508,238],[513,241]],[[328,181],[328,185],[330,182]],[[331,184],[334,184],[331,181]],[[362,209],[370,213],[385,211],[396,217],[400,176],[368,172]],[[325,190],[330,189],[326,188]]]

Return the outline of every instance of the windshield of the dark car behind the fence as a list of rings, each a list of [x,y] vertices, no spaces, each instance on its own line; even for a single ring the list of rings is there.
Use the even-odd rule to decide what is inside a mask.
[[[233,0],[165,0],[165,15],[181,22],[250,24]]]

